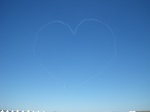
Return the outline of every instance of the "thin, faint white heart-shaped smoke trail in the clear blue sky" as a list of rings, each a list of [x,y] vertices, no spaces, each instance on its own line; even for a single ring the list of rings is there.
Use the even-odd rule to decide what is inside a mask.
[[[52,25],[52,24],[59,23],[59,24],[65,26],[65,27],[67,27],[67,28],[71,31],[71,33],[72,33],[73,35],[75,35],[75,34],[77,33],[79,27],[80,27],[83,23],[86,23],[86,22],[96,22],[96,23],[98,23],[98,24],[101,24],[101,25],[103,25],[104,27],[106,27],[106,28],[110,31],[111,35],[112,35],[112,38],[113,38],[113,43],[112,43],[112,45],[113,45],[114,53],[113,53],[113,56],[111,57],[109,63],[108,63],[107,66],[105,67],[105,70],[106,70],[106,69],[108,68],[108,66],[110,66],[110,64],[112,63],[112,61],[114,60],[114,58],[116,57],[116,37],[115,37],[115,35],[114,35],[113,30],[111,29],[111,27],[110,27],[109,25],[107,25],[107,24],[105,24],[105,23],[103,23],[103,22],[101,22],[101,21],[99,21],[99,20],[97,20],[97,19],[84,19],[84,20],[82,20],[82,21],[75,27],[75,29],[72,29],[72,27],[71,27],[69,24],[66,24],[66,23],[64,23],[63,21],[59,21],[59,20],[58,20],[58,21],[52,21],[52,22],[50,22],[50,23],[48,23],[48,24],[42,26],[42,27],[41,27],[39,30],[37,30],[37,32],[36,32],[36,37],[35,37],[35,41],[34,41],[34,44],[33,44],[33,57],[34,57],[34,59],[39,63],[39,65],[40,65],[51,77],[53,77],[53,78],[59,78],[59,80],[61,80],[64,85],[68,84],[68,82],[67,82],[66,80],[64,80],[64,79],[62,79],[62,78],[60,78],[60,77],[58,77],[58,76],[54,76],[53,74],[51,74],[51,73],[49,72],[48,68],[41,62],[41,60],[40,60],[40,59],[37,57],[37,55],[36,55],[36,51],[35,51],[35,50],[36,50],[36,47],[37,47],[37,42],[38,42],[38,38],[39,38],[39,33],[40,33],[43,29],[45,29],[48,25]],[[99,73],[97,73],[97,74],[95,74],[95,75],[91,75],[90,77],[88,77],[87,79],[85,79],[83,82],[81,82],[81,83],[79,83],[78,85],[76,85],[76,87],[80,87],[81,85],[86,84],[87,82],[89,82],[89,81],[92,80],[93,78],[98,77],[100,74],[101,74],[101,72],[99,72]],[[70,85],[70,84],[69,84],[69,85]]]

